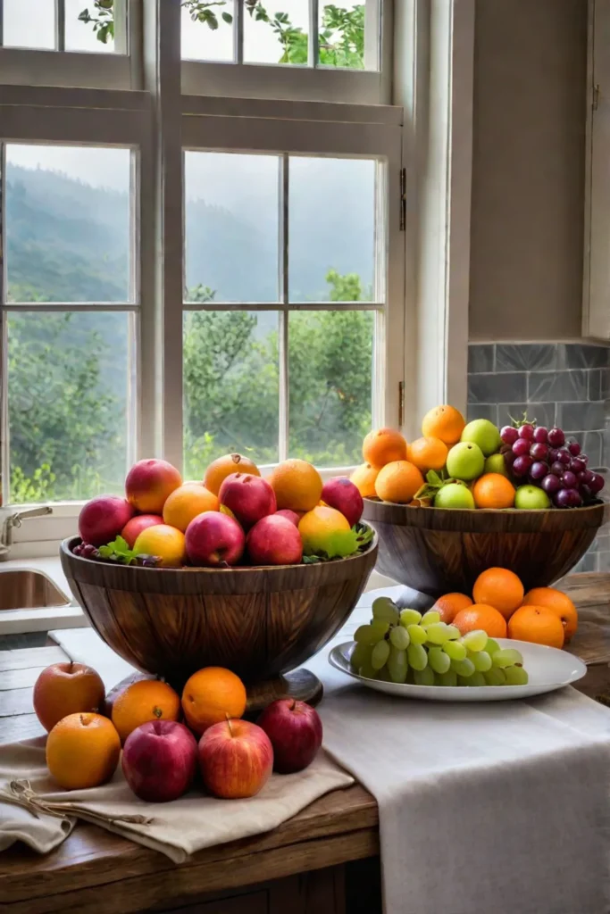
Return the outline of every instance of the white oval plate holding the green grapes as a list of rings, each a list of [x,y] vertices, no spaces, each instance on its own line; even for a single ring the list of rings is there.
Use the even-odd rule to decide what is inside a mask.
[[[358,679],[362,685],[368,685],[377,692],[402,698],[424,698],[426,701],[508,701],[512,698],[531,698],[570,685],[582,679],[587,671],[582,660],[567,651],[558,651],[556,647],[511,641],[508,638],[496,640],[500,647],[515,647],[523,654],[523,665],[530,675],[528,685],[401,685],[367,679],[354,673],[349,666],[349,657],[355,644],[353,641],[337,644],[328,654],[328,662],[341,673]]]

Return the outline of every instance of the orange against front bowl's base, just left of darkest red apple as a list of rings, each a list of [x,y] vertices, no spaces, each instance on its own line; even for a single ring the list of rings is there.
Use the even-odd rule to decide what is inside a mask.
[[[199,735],[228,717],[242,717],[246,688],[239,676],[222,666],[206,666],[187,681],[182,710],[187,724]]]

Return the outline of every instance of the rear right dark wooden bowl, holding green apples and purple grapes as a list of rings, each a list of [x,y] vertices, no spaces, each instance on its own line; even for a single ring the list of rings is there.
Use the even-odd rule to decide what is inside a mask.
[[[377,531],[381,574],[436,599],[470,594],[492,567],[514,571],[526,590],[552,584],[583,558],[604,509],[459,510],[365,498],[362,517]]]

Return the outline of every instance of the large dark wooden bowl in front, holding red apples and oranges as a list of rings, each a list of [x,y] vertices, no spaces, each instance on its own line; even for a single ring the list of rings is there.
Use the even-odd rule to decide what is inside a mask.
[[[277,568],[145,569],[60,547],[70,590],[116,654],[184,684],[226,666],[247,685],[303,664],[348,619],[375,566],[377,537],[357,556]]]

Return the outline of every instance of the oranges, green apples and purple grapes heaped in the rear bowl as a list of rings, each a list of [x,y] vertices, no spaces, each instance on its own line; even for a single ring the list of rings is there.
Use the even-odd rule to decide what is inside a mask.
[[[364,498],[437,508],[576,508],[594,502],[604,477],[588,467],[578,441],[561,429],[521,421],[498,429],[487,419],[466,424],[452,406],[431,409],[422,438],[369,432],[364,463],[351,481]]]

